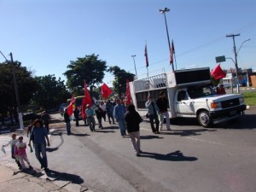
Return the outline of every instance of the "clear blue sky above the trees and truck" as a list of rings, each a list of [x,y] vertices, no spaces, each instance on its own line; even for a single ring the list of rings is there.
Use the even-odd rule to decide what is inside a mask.
[[[149,75],[169,66],[169,36],[176,49],[177,69],[217,66],[215,57],[233,57],[236,37],[238,67],[256,67],[255,0],[0,0],[0,50],[34,71],[36,76],[61,77],[70,61],[96,54],[108,66],[145,77],[148,44]],[[4,59],[0,55],[0,62]],[[235,67],[231,60],[221,64]],[[106,73],[104,82],[113,80]]]

